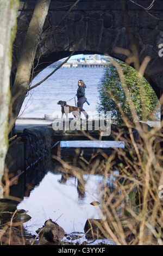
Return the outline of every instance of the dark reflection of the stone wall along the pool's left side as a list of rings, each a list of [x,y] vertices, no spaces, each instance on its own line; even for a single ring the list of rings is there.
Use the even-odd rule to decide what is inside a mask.
[[[31,191],[33,191],[36,186],[39,186],[41,180],[48,172],[48,169],[51,169],[50,166],[51,154],[47,154],[46,157],[37,161],[37,163],[26,170],[26,172],[24,172],[24,170],[18,170],[18,172],[14,174],[9,170],[9,188],[7,188],[7,193],[5,193],[4,198],[0,200],[1,212],[4,212],[0,216],[1,224],[9,221],[11,213],[16,209],[23,209],[19,207],[20,202],[23,202],[24,198],[30,197]]]

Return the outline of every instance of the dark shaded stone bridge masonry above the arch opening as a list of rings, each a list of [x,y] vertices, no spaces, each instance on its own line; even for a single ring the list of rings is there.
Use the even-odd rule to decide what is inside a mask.
[[[12,79],[36,1],[21,1],[17,14]],[[37,48],[35,75],[49,64],[75,54],[108,54],[125,61],[127,56],[116,47],[132,51],[135,47],[140,64],[149,56],[145,78],[160,98],[163,92],[163,4],[161,0],[52,0],[40,44]],[[135,3],[134,3],[135,2]],[[153,5],[151,3],[153,2]],[[58,26],[59,25],[59,26]],[[80,39],[83,39],[77,47]],[[163,52],[163,51],[162,51]],[[160,55],[160,56],[159,56]]]

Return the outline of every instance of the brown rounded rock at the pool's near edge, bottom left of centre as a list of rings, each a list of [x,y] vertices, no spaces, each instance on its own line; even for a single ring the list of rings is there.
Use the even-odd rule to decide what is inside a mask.
[[[56,222],[51,219],[45,222],[42,228],[36,230],[40,237],[45,237],[48,242],[59,243],[65,235],[65,231]]]

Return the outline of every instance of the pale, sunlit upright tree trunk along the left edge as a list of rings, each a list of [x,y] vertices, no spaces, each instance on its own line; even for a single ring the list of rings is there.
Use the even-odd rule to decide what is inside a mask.
[[[0,0],[0,183],[4,174],[4,162],[8,150],[7,127],[10,103],[12,43],[16,35],[18,5],[18,0]]]

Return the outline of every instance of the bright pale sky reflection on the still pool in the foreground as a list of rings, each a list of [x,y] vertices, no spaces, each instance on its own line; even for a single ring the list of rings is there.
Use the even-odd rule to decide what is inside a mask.
[[[35,233],[48,218],[64,228],[66,233],[84,231],[87,218],[101,218],[101,205],[93,206],[93,201],[102,200],[101,188],[104,186],[103,175],[81,174],[76,178],[61,172],[61,165],[55,163],[54,169],[48,170],[39,186],[24,197],[18,209],[26,209],[32,219],[26,223],[29,231]],[[109,185],[112,175],[109,177]]]

